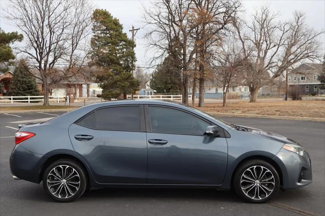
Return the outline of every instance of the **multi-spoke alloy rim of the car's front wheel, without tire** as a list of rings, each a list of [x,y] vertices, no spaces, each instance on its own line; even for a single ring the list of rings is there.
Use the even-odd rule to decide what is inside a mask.
[[[275,178],[268,168],[251,166],[241,175],[240,186],[247,197],[262,200],[272,194],[275,188]]]

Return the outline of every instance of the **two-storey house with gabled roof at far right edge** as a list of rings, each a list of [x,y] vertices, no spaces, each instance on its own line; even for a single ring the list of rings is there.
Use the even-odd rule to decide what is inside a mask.
[[[303,63],[288,73],[289,92],[293,87],[298,87],[302,94],[324,94],[324,90],[319,88],[321,83],[318,81],[322,69],[322,64]]]

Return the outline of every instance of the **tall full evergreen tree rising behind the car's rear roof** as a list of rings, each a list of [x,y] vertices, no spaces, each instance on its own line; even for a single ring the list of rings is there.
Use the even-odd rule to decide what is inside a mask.
[[[104,70],[96,76],[104,99],[117,98],[139,89],[139,81],[131,74],[136,56],[134,41],[127,38],[117,18],[108,11],[96,9],[92,14],[92,63]]]

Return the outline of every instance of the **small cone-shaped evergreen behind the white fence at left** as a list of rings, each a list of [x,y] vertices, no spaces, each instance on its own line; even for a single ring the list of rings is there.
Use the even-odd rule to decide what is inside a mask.
[[[36,80],[30,74],[28,65],[24,60],[21,60],[14,70],[9,94],[12,96],[40,95]]]

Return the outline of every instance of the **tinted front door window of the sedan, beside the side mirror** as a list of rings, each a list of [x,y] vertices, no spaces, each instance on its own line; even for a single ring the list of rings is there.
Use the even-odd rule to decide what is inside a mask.
[[[149,106],[153,132],[203,135],[210,124],[188,113],[166,107]]]

